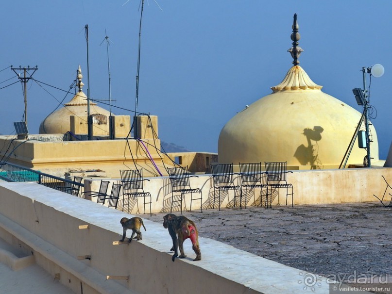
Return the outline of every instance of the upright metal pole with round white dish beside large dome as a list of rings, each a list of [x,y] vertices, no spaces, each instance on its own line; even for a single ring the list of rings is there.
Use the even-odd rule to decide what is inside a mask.
[[[357,100],[358,105],[363,105],[363,114],[365,116],[365,133],[366,133],[366,164],[367,167],[371,167],[370,157],[370,132],[369,132],[369,119],[368,119],[368,108],[369,108],[369,91],[366,89],[366,74],[370,74],[375,78],[379,78],[384,74],[384,66],[375,64],[372,67],[362,67],[362,78],[363,78],[363,90],[360,88],[353,89],[354,96]]]

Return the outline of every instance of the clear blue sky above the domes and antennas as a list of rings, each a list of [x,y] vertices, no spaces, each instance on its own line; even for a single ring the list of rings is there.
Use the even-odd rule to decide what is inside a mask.
[[[138,111],[158,115],[159,137],[192,151],[217,152],[231,117],[272,91],[290,68],[293,14],[298,16],[300,65],[323,92],[362,111],[352,94],[363,66],[382,64],[371,83],[372,120],[385,159],[392,140],[392,1],[145,0]],[[115,114],[133,115],[140,21],[139,0],[4,1],[0,11],[0,88],[17,81],[10,65],[38,65],[34,79],[68,91],[80,64],[87,92],[85,25],[89,27],[90,96],[108,98],[105,30]],[[162,9],[162,10],[161,10]],[[9,81],[6,81],[10,79]],[[369,84],[369,80],[367,81]],[[41,87],[42,86],[42,87]],[[30,81],[28,128],[65,92]],[[49,94],[49,93],[50,94]],[[68,95],[64,102],[68,102]],[[22,120],[20,83],[0,90],[0,133]],[[56,100],[57,99],[57,100]],[[100,105],[106,109],[108,106]],[[374,113],[375,115],[375,113]]]

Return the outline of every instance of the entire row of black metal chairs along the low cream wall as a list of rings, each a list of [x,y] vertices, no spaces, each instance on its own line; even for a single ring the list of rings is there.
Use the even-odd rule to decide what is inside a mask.
[[[260,188],[260,205],[262,205],[263,190],[266,190],[265,205],[268,207],[268,196],[270,196],[270,207],[272,202],[272,189],[286,188],[286,205],[287,199],[291,196],[291,206],[293,206],[293,186],[287,182],[286,174],[291,172],[287,171],[286,162],[269,162],[265,163],[266,171],[262,171],[261,163],[239,163],[239,173],[233,172],[233,163],[211,164],[212,177],[214,181],[214,195],[213,195],[213,208],[215,208],[216,199],[218,199],[219,210],[221,210],[221,192],[234,190],[234,207],[237,205],[237,198],[239,197],[239,207],[242,209],[242,189],[245,189],[245,208],[247,201],[248,189]],[[190,177],[197,177],[196,175],[189,175],[188,167],[172,167],[168,168],[169,179],[171,184],[171,204],[170,212],[172,212],[173,205],[179,202],[182,214],[182,201],[185,194],[190,194],[190,207],[192,210],[192,201],[200,200],[200,210],[203,212],[203,195],[200,188],[191,188],[189,183]],[[240,184],[235,184],[234,175],[239,174],[241,178]],[[123,202],[122,210],[128,206],[130,210],[130,201],[133,198],[143,198],[143,213],[146,213],[146,205],[150,206],[152,197],[150,192],[145,192],[143,189],[143,171],[141,169],[120,170],[121,184],[113,184],[112,192],[107,194],[109,181],[102,180],[98,192],[87,191],[91,197],[98,197],[97,203],[105,204],[108,201],[109,207],[117,208],[119,201],[119,194],[121,187],[123,189]],[[74,196],[79,196],[81,177],[74,178],[74,183],[71,187],[57,187],[58,190],[69,193]],[[78,184],[79,183],[79,184]],[[289,193],[289,189],[291,189]],[[218,191],[218,193],[215,193]],[[237,195],[239,191],[239,195]],[[87,193],[83,192],[83,193]],[[81,193],[81,194],[83,194]],[[176,197],[180,193],[180,196]],[[194,197],[194,194],[198,195]],[[200,196],[199,196],[200,194]]]

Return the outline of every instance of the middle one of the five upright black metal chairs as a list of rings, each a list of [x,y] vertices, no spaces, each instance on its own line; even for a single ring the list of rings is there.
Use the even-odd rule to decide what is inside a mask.
[[[214,206],[218,198],[219,210],[221,210],[221,191],[234,190],[234,207],[236,206],[236,191],[239,190],[239,208],[242,209],[242,188],[234,184],[233,163],[211,164],[212,177],[214,180]],[[215,191],[218,190],[218,196]]]

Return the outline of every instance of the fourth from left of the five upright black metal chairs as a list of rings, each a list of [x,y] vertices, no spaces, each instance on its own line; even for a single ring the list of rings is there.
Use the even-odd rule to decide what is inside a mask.
[[[266,173],[262,171],[261,163],[239,163],[239,175],[241,176],[241,186],[245,188],[245,208],[248,189],[258,188],[261,189],[260,206],[262,206],[263,189],[267,190],[265,206],[268,208],[268,185],[265,177]]]

